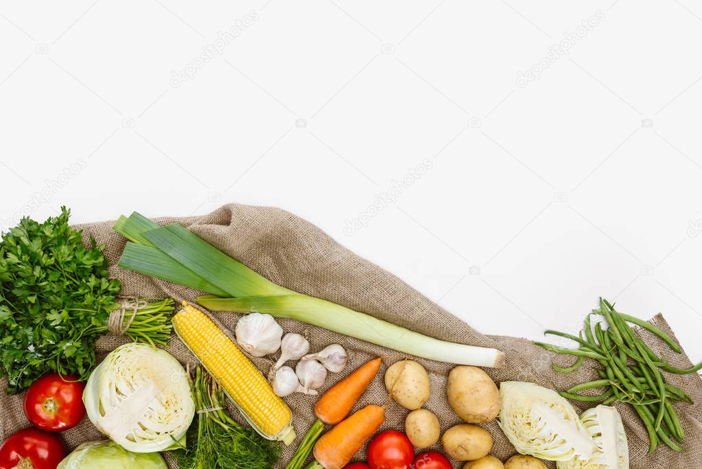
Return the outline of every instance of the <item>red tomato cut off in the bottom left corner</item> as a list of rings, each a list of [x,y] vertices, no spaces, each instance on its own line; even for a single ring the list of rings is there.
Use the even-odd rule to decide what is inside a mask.
[[[66,449],[58,435],[25,428],[0,447],[0,469],[56,469],[65,456]]]

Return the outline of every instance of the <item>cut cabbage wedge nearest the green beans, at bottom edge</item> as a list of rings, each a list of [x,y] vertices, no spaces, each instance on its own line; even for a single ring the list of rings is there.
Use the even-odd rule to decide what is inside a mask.
[[[629,447],[619,412],[614,407],[597,406],[580,416],[597,449],[590,459],[573,458],[556,463],[558,469],[628,469]]]

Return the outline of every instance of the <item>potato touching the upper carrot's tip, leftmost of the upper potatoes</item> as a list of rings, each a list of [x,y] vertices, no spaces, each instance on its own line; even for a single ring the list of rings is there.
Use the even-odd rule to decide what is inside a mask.
[[[429,374],[417,362],[402,360],[385,371],[385,388],[397,404],[419,409],[429,399]]]

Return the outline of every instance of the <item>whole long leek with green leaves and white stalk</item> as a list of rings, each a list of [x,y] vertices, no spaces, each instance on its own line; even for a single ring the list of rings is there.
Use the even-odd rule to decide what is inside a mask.
[[[159,227],[133,213],[128,218],[119,218],[114,229],[131,241],[119,260],[121,267],[212,293],[214,296],[199,298],[199,303],[205,308],[244,313],[259,311],[298,319],[438,362],[503,365],[504,354],[500,350],[440,341],[331,301],[279,286],[181,225]]]

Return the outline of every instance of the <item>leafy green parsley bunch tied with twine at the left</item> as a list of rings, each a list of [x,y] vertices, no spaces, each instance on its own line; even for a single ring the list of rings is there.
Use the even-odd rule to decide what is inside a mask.
[[[68,225],[70,211],[38,223],[22,218],[0,241],[0,377],[7,392],[26,389],[56,371],[85,380],[95,366],[95,341],[107,331],[121,283],[107,275],[104,246],[83,245]],[[137,312],[135,327],[160,326],[157,342],[171,332],[172,300]],[[170,308],[168,308],[170,306]],[[145,311],[145,314],[142,313]],[[164,320],[165,318],[165,320]],[[130,335],[127,333],[127,335]],[[134,338],[134,337],[133,337]],[[151,341],[150,341],[151,342]],[[153,342],[152,342],[153,343]]]

